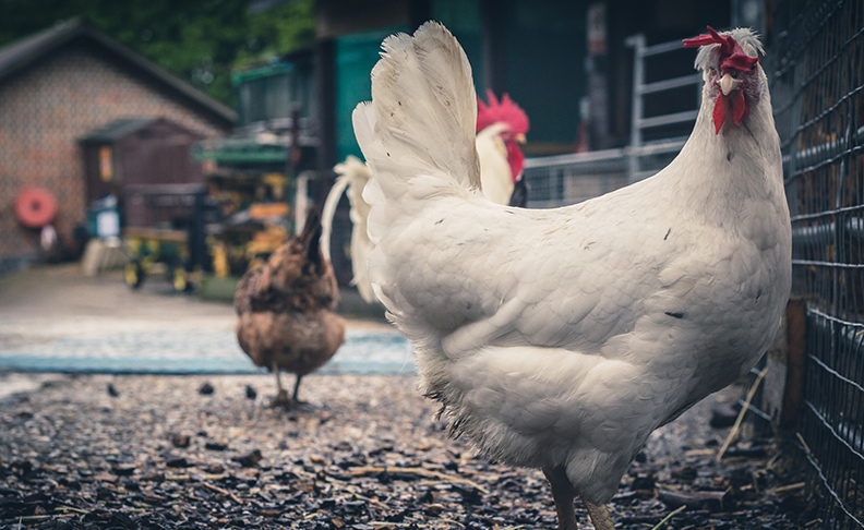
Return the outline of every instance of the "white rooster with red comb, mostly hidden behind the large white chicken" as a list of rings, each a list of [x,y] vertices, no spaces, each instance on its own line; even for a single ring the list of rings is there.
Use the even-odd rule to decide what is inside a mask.
[[[528,132],[528,116],[516,105],[507,94],[499,101],[492,91],[488,92],[489,104],[478,99],[477,136],[475,138],[477,153],[480,160],[480,180],[482,181],[483,195],[497,204],[525,206],[527,200],[527,183],[523,180],[525,155],[519,144],[525,143]],[[338,174],[333,183],[327,198],[324,201],[322,212],[321,245],[324,256],[331,261],[331,234],[336,207],[343,193],[348,194],[350,202],[349,217],[351,229],[351,285],[357,287],[360,298],[367,303],[375,301],[372,284],[369,281],[367,257],[372,248],[367,233],[367,217],[369,205],[363,201],[363,188],[372,171],[369,166],[356,156],[349,155],[345,161],[333,168]],[[515,190],[515,193],[514,193]]]

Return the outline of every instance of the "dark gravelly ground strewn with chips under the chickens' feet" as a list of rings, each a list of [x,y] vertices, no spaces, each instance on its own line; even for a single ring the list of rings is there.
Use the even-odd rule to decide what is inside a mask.
[[[27,390],[0,399],[0,529],[555,527],[542,474],[448,439],[412,376],[313,374],[295,410],[266,406],[268,375],[31,377],[0,374]],[[806,526],[772,447],[716,463],[729,431],[711,408],[739,392],[652,435],[611,504],[616,528],[682,505],[664,528]]]

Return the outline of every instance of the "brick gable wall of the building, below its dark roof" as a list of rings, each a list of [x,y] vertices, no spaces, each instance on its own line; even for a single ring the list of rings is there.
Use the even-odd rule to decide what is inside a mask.
[[[39,234],[21,226],[25,186],[50,190],[55,228],[73,245],[87,204],[77,140],[119,118],[165,117],[206,137],[224,134],[205,113],[172,98],[86,41],[73,43],[0,85],[0,274],[38,255]]]

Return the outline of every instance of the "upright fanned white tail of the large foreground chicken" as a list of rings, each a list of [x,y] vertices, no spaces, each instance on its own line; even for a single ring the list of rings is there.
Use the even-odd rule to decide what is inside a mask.
[[[413,36],[388,37],[382,48],[372,101],[353,112],[357,141],[374,173],[364,198],[373,208],[398,202],[399,210],[416,200],[479,189],[477,96],[459,43],[427,22]]]

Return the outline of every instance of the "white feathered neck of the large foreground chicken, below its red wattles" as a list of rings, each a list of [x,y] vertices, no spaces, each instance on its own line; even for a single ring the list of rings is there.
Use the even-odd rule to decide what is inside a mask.
[[[676,190],[676,198],[709,221],[711,217],[734,219],[754,200],[784,202],[780,141],[768,89],[754,101],[741,125],[729,120],[719,134],[713,106],[713,99],[704,95],[689,140],[662,172]]]

